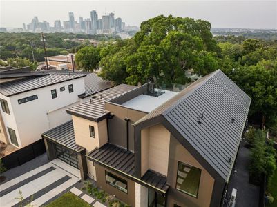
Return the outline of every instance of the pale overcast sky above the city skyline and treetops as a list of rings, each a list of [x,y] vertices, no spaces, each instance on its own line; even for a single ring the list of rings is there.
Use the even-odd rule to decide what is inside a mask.
[[[68,12],[88,18],[90,10],[98,17],[115,12],[126,26],[160,14],[192,17],[211,22],[213,28],[277,28],[277,1],[12,1],[0,0],[1,27],[22,27],[34,16],[53,26],[55,20],[68,20]]]

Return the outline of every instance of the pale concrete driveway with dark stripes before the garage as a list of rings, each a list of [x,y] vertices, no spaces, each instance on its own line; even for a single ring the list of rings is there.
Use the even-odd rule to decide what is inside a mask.
[[[32,164],[35,160],[30,161]],[[27,165],[28,165],[27,164]],[[23,168],[19,166],[17,168]],[[16,170],[13,168],[12,170]],[[9,170],[10,171],[10,170]],[[8,172],[9,172],[8,171]],[[9,173],[6,174],[9,174]],[[10,179],[0,186],[1,207],[19,206],[19,190],[23,195],[23,206],[32,199],[34,206],[41,206],[49,200],[59,197],[80,180],[79,170],[55,159],[43,166]]]

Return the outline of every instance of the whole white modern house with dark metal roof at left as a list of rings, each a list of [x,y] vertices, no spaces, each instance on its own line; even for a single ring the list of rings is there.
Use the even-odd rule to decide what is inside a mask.
[[[66,108],[111,88],[96,74],[0,68],[0,140],[23,148],[71,119]]]

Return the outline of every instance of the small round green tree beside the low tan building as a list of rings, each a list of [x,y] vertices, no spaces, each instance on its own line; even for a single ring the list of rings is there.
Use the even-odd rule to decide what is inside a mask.
[[[75,61],[79,69],[96,70],[100,61],[100,49],[95,46],[86,46],[77,52]]]

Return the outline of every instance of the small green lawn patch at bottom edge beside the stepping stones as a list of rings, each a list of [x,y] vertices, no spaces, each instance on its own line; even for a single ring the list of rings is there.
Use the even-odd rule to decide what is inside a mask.
[[[89,207],[90,205],[74,195],[73,193],[65,193],[61,197],[55,199],[55,201],[52,201],[50,204],[48,204],[46,207]]]

